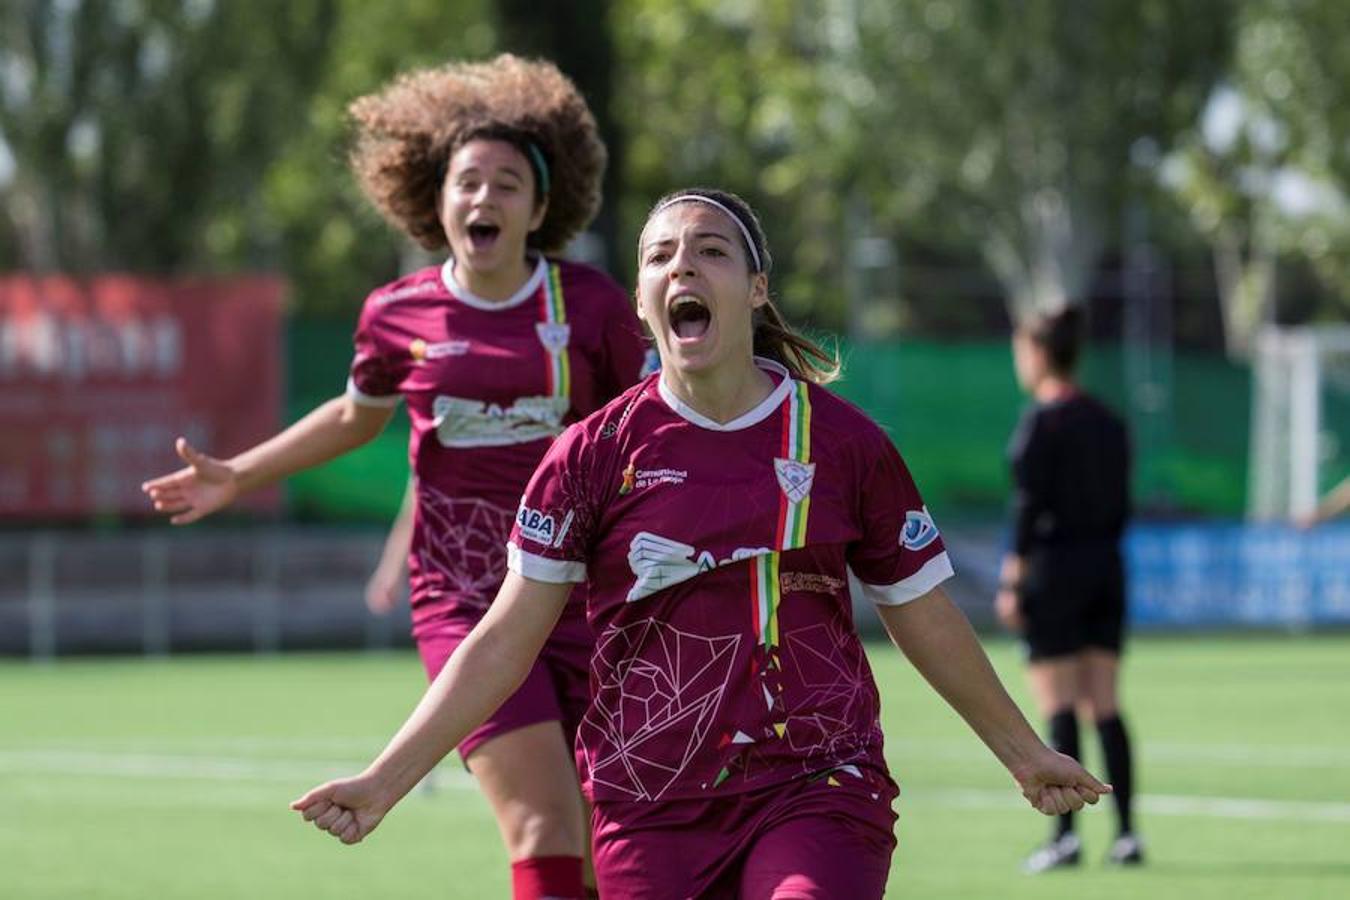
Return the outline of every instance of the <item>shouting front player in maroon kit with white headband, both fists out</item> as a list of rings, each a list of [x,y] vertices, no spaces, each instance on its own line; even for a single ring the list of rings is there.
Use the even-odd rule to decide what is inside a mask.
[[[896,787],[849,580],[1046,814],[1108,791],[1041,743],[938,583],[950,564],[882,430],[768,297],[740,198],[662,200],[637,306],[662,374],[549,448],[497,600],[371,766],[296,800],[343,842],[510,694],[574,583],[597,634],[578,733],[612,897],[880,897]]]

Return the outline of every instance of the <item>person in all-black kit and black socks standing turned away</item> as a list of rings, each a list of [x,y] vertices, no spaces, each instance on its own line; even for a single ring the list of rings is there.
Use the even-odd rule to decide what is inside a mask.
[[[1116,675],[1125,636],[1120,536],[1130,514],[1125,424],[1073,382],[1076,309],[1044,316],[1013,337],[1018,382],[1035,401],[1013,437],[1013,549],[1003,560],[999,617],[1021,631],[1031,691],[1050,742],[1077,758],[1077,711],[1096,722],[1119,834],[1107,860],[1138,864],[1133,765]],[[1061,815],[1027,872],[1079,862],[1073,815]]]

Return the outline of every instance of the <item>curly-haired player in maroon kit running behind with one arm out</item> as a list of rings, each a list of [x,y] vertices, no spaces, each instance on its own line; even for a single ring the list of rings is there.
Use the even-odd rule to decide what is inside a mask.
[[[364,444],[405,399],[413,636],[435,677],[502,582],[514,509],[544,451],[637,381],[644,344],[618,285],[547,255],[594,216],[605,166],[595,120],[558,69],[506,55],[417,72],[351,115],[366,194],[450,258],[370,294],[344,395],[230,460],[180,439],[188,467],[144,488],[174,524],[193,522]],[[585,896],[571,745],[594,638],[580,603],[559,613],[514,695],[455,741],[493,806],[520,899]]]

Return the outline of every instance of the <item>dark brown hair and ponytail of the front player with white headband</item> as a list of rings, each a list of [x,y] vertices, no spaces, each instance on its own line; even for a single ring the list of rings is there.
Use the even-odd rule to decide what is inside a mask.
[[[755,215],[748,202],[729,190],[690,188],[668,193],[656,201],[652,210],[647,215],[647,220],[651,221],[652,216],[672,200],[690,196],[706,197],[730,210],[745,228],[751,240],[751,247],[747,247],[745,254],[747,263],[753,273],[768,275],[770,269],[774,267],[774,258],[768,252],[768,240],[764,237],[764,228],[760,225],[759,216]],[[755,267],[756,258],[759,259],[759,269]],[[811,339],[792,331],[783,320],[783,314],[778,312],[772,300],[767,300],[763,306],[755,310],[753,324],[753,352],[756,356],[772,359],[787,368],[794,378],[817,385],[828,385],[840,376],[841,366],[838,354],[826,351]]]

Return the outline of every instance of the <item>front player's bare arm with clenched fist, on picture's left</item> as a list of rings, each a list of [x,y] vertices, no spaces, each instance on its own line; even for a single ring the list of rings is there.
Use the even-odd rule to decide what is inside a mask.
[[[508,571],[497,599],[375,761],[356,777],[319,785],[290,808],[343,843],[370,834],[441,757],[520,687],[558,623],[571,587]]]

